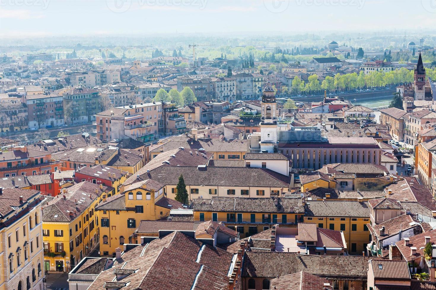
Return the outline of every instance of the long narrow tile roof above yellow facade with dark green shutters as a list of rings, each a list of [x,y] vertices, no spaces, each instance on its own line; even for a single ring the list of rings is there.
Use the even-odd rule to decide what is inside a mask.
[[[276,197],[212,197],[194,199],[195,211],[238,212],[238,213],[303,213],[301,198]]]

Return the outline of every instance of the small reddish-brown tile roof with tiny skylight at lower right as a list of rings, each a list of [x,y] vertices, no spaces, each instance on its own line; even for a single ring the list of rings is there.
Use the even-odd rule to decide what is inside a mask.
[[[405,260],[369,260],[376,280],[410,280],[409,267]]]

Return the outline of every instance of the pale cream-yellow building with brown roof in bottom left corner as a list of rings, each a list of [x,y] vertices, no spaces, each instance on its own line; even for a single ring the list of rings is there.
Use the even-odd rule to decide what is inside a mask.
[[[43,202],[38,190],[0,189],[0,289],[44,289]]]

